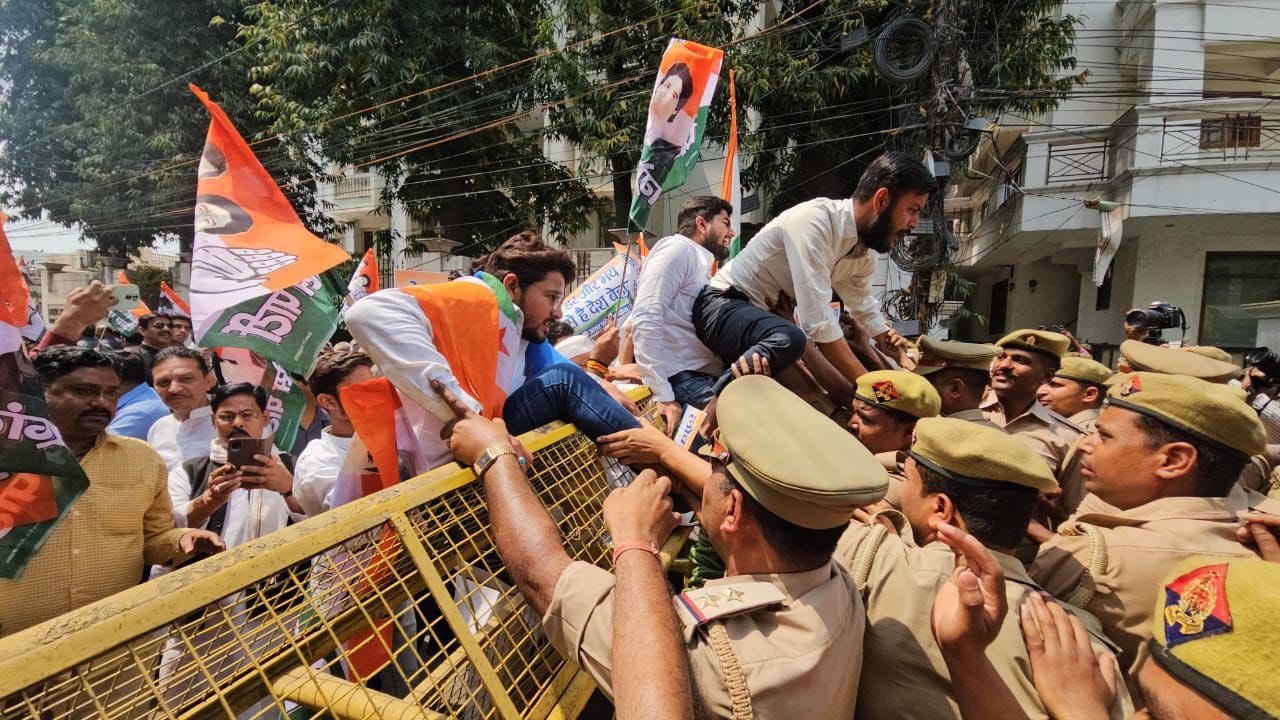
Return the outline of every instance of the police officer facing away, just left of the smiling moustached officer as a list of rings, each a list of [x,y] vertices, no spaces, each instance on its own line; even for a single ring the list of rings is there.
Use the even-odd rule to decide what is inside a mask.
[[[942,415],[1001,429],[978,407],[987,391],[991,361],[1000,355],[998,347],[933,340],[929,336],[920,336],[916,346],[920,350],[920,363],[911,372],[925,377],[933,389],[938,391]]]

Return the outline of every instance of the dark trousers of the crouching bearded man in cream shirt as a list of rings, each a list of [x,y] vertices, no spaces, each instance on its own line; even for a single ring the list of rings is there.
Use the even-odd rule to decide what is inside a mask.
[[[740,357],[767,359],[777,377],[804,355],[808,342],[799,325],[756,307],[741,291],[709,286],[694,300],[694,332],[726,365],[713,388],[716,395],[733,379],[730,365]]]

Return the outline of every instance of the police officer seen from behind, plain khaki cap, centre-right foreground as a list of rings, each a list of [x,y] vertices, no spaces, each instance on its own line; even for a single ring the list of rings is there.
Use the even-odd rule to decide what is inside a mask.
[[[1052,491],[1055,482],[1025,443],[998,429],[952,418],[916,424],[905,470],[902,511],[876,516],[891,519],[897,533],[879,521],[855,523],[836,548],[837,560],[854,573],[867,601],[856,717],[951,720],[959,711],[929,615],[956,562],[938,541],[933,521],[963,527],[995,551],[1007,580],[1009,607],[1016,609],[1039,588],[1011,550],[1023,537],[1038,495]],[[1108,650],[1097,620],[1080,615],[1094,632],[1096,650]],[[987,657],[1028,717],[1047,720],[1032,683],[1016,614],[1005,618]],[[1129,696],[1121,692],[1111,716],[1125,717],[1129,710]]]

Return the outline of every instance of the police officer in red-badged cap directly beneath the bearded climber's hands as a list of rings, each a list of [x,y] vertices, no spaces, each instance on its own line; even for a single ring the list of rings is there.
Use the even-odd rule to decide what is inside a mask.
[[[888,470],[888,492],[874,509],[899,506],[902,461],[911,447],[915,421],[936,418],[941,405],[933,386],[906,370],[874,370],[858,378],[849,430]]]

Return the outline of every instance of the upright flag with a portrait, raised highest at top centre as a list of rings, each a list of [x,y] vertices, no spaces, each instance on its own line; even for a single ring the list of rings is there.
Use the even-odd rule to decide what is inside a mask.
[[[698,164],[723,58],[722,50],[675,37],[662,54],[636,167],[636,192],[631,200],[634,229],[644,229],[658,197],[685,184]]]

